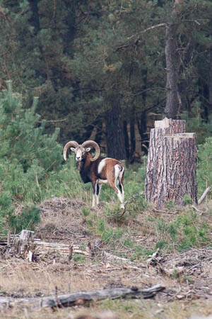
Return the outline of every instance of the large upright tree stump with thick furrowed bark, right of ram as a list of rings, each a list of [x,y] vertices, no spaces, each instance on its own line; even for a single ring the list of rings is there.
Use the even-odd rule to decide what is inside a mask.
[[[185,121],[165,118],[151,130],[146,165],[146,201],[164,208],[167,201],[197,203],[196,134],[185,133]]]

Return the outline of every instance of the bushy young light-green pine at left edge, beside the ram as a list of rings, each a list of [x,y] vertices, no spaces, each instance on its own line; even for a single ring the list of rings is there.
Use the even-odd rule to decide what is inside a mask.
[[[23,96],[13,92],[11,81],[6,85],[0,92],[0,230],[16,233],[23,227],[32,230],[39,222],[40,208],[34,203],[40,202],[42,185],[51,172],[61,168],[62,147],[58,130],[45,133],[45,121],[35,113],[37,98],[24,109]],[[17,202],[25,206],[20,216],[14,214]]]

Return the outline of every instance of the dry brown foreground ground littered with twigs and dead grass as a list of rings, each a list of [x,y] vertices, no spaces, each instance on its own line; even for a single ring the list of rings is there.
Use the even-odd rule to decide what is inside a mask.
[[[34,262],[1,250],[1,318],[212,318],[212,250],[202,247],[170,254],[158,251],[133,260],[134,247],[126,250],[113,238],[112,250],[111,243],[106,245],[98,231],[92,230],[93,224],[88,223],[97,216],[103,218],[103,207],[84,216],[83,206],[84,203],[67,198],[42,203],[42,221],[35,230],[35,238],[50,245],[44,251],[39,248],[37,253],[35,249]],[[156,235],[151,228],[148,230],[144,215],[126,218],[122,227],[129,230],[132,242],[152,250]],[[117,223],[111,222],[111,226],[115,229]],[[70,256],[68,251],[51,250],[51,243],[78,246],[82,253],[73,251]],[[57,310],[35,307],[27,301],[79,291],[144,289],[156,284],[165,289],[153,298],[107,299]]]

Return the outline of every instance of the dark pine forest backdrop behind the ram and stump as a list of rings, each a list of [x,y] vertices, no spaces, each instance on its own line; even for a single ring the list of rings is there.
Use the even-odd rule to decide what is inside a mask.
[[[134,162],[164,116],[211,135],[210,0],[2,0],[0,28],[0,89],[12,80],[25,109],[39,97],[59,143]]]

